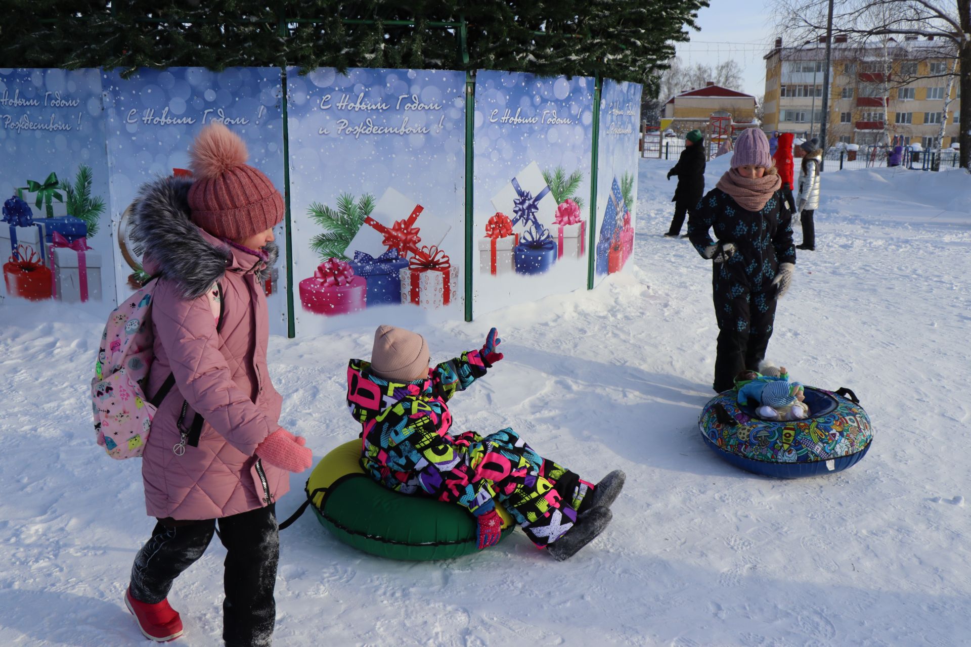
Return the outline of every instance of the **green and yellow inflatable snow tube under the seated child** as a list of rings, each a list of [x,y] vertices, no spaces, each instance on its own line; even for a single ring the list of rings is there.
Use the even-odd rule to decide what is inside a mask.
[[[336,447],[307,479],[320,525],[349,546],[392,560],[448,560],[478,551],[478,527],[468,510],[388,490],[361,468],[360,448],[360,440]],[[505,537],[515,524],[500,505],[496,510]]]

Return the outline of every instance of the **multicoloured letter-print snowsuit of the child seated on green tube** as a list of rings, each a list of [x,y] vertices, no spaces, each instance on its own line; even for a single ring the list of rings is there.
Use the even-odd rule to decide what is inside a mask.
[[[446,404],[485,375],[478,350],[439,364],[429,377],[389,382],[371,364],[348,367],[348,405],[361,423],[361,465],[385,487],[463,505],[477,517],[503,503],[537,546],[566,533],[588,484],[532,450],[512,429],[452,437]]]

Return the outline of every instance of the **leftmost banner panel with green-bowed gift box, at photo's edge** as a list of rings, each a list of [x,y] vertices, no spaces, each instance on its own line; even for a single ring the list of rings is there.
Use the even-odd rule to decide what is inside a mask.
[[[7,297],[114,307],[101,72],[0,70]]]

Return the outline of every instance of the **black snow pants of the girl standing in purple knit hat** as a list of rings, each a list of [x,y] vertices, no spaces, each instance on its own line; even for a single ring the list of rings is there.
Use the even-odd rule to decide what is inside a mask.
[[[765,359],[776,317],[775,292],[774,285],[766,292],[742,292],[734,297],[715,292],[719,342],[712,386],[719,393],[734,387],[739,372],[758,371],[759,362]]]

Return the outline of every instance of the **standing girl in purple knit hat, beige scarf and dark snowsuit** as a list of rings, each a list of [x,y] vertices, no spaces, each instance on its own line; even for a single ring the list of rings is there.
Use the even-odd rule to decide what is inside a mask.
[[[749,128],[735,142],[731,169],[688,219],[688,238],[712,261],[718,393],[733,388],[739,372],[757,371],[772,337],[776,302],[792,280],[795,247],[781,188],[765,134]],[[708,234],[713,228],[718,243]]]

